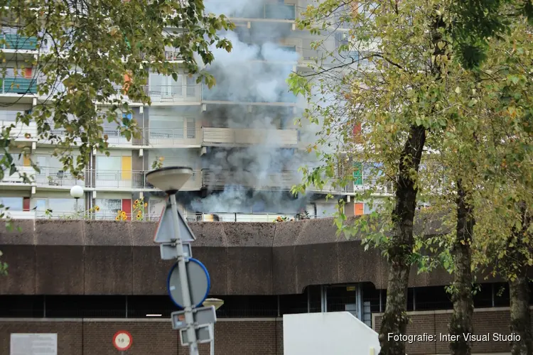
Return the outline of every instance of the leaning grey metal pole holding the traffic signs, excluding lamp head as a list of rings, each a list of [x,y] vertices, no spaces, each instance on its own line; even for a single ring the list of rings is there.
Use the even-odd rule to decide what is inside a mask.
[[[183,255],[183,244],[179,233],[178,206],[176,205],[176,195],[171,194],[172,219],[174,231],[176,233],[176,249],[178,251],[178,271],[181,280],[181,292],[183,295],[183,310],[185,310],[185,322],[187,323],[187,337],[190,342],[190,355],[198,355],[198,344],[196,343],[196,331],[194,329],[193,307],[190,303],[189,280],[187,269],[185,268],[185,256]]]

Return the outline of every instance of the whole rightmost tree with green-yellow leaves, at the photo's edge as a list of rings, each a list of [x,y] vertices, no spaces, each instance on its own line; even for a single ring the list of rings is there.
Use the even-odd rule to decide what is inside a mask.
[[[533,37],[525,18],[517,18],[511,30],[509,37],[491,43],[483,70],[490,77],[482,84],[490,139],[480,160],[485,187],[478,229],[484,237],[476,239],[475,261],[509,283],[511,332],[520,336],[512,342],[512,354],[532,354],[527,271],[533,265]]]

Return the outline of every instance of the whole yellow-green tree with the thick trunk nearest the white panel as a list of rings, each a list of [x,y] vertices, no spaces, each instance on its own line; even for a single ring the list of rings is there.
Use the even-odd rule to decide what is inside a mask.
[[[345,6],[344,11],[337,13]],[[348,7],[348,9],[347,9]],[[457,82],[457,64],[450,60],[444,29],[447,18],[441,1],[324,1],[310,6],[299,22],[311,31],[330,31],[339,23],[351,23],[348,43],[328,52],[328,67],[317,60],[310,75],[292,75],[291,89],[307,97],[310,109],[304,116],[321,123],[318,134],[318,167],[303,168],[304,182],[321,186],[353,182],[340,162],[348,157],[366,165],[366,191],[356,200],[380,204],[377,212],[357,219],[355,226],[343,226],[345,216],[336,219],[346,235],[363,229],[370,235],[367,247],[379,246],[389,265],[387,307],[379,329],[380,354],[404,354],[403,342],[389,340],[388,334],[405,334],[407,287],[414,255],[414,216],[419,192],[419,168],[429,133],[446,127],[453,107],[446,105],[448,92]],[[323,48],[315,43],[314,48]],[[362,131],[352,136],[352,127]],[[325,148],[332,147],[333,152]],[[325,148],[324,148],[325,147]],[[376,165],[379,163],[379,165]],[[337,173],[341,173],[340,176]],[[392,183],[394,195],[381,196],[381,187]],[[387,216],[383,218],[383,216]]]

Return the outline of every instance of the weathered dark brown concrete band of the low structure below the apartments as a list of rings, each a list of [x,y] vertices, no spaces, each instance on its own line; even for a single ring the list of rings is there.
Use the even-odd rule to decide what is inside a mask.
[[[0,295],[164,295],[171,261],[161,261],[153,222],[16,220],[0,226],[9,275]],[[434,226],[422,226],[434,229]],[[18,231],[18,228],[20,231]],[[288,295],[308,285],[387,286],[387,261],[360,238],[335,236],[333,219],[283,223],[190,223],[193,256],[214,295]],[[102,278],[102,275],[106,275]],[[448,285],[446,271],[411,273],[410,286]]]

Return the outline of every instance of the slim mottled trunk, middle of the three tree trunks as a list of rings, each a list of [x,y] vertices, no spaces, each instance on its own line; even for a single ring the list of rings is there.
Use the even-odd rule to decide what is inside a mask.
[[[465,191],[463,182],[457,182],[457,227],[456,239],[453,242],[453,313],[448,325],[450,334],[457,335],[455,342],[450,343],[452,355],[470,355],[472,344],[463,334],[473,333],[472,315],[474,302],[472,297],[472,249],[475,220],[473,206],[470,204],[470,194]]]

